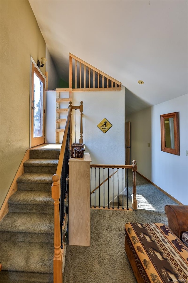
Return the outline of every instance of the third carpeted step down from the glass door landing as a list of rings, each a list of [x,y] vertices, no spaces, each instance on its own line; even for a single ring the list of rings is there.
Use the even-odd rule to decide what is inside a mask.
[[[50,173],[24,173],[17,179],[18,190],[51,191],[52,176]]]

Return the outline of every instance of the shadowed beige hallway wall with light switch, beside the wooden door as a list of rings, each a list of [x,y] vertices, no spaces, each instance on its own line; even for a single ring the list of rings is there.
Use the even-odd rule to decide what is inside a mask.
[[[151,108],[126,116],[126,121],[130,121],[130,162],[135,159],[138,172],[151,180]]]

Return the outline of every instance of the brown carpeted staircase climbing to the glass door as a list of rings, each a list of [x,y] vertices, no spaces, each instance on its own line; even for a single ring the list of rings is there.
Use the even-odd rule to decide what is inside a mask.
[[[59,153],[56,149],[31,149],[30,159],[24,162],[24,174],[17,179],[18,190],[9,198],[9,213],[0,223],[1,283],[53,282],[51,185]],[[63,249],[65,257],[66,243]]]

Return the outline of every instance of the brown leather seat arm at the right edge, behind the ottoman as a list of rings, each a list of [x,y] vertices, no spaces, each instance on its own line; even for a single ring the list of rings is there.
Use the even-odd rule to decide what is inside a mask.
[[[168,227],[181,240],[182,233],[188,231],[188,205],[165,205]]]

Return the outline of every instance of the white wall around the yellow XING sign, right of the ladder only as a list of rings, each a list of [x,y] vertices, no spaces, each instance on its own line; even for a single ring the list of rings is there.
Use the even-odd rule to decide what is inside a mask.
[[[125,164],[125,88],[122,86],[121,91],[73,92],[73,105],[79,105],[81,100],[83,142],[92,163]],[[97,127],[103,118],[113,125],[105,134]]]

